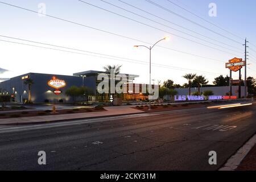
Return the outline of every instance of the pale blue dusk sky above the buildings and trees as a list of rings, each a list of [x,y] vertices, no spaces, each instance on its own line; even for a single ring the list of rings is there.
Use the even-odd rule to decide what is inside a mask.
[[[170,40],[168,40],[168,42],[163,41],[158,44],[158,46],[170,49],[158,46],[152,49],[152,64],[154,63],[152,65],[152,80],[155,80],[155,82],[157,82],[157,80],[163,82],[164,80],[171,79],[174,80],[176,84],[184,84],[187,82],[182,78],[185,73],[197,73],[197,75],[207,77],[209,84],[212,84],[214,77],[229,74],[229,70],[225,68],[225,63],[227,63],[229,59],[232,59],[233,57],[243,58],[244,46],[242,46],[242,44],[245,42],[244,39],[247,38],[250,42],[248,43],[248,46],[250,47],[248,48],[248,63],[251,64],[248,66],[249,69],[247,71],[247,76],[256,77],[255,0],[170,0],[171,2],[184,7],[184,9],[199,15],[209,22],[217,24],[226,31],[205,22],[195,15],[188,13],[184,9],[180,9],[180,7],[175,6],[167,0],[151,1],[187,18],[187,20],[170,13],[170,11],[166,11],[160,7],[152,5],[152,3],[145,0],[122,1],[166,19],[169,22],[135,9],[134,7],[118,0],[104,1],[132,11],[133,13],[141,16],[145,16],[148,19],[129,13],[125,10],[121,10],[118,7],[114,7],[100,0],[84,0],[84,2],[113,11],[114,13],[126,16],[130,19],[76,0],[2,0],[1,2],[10,3],[11,5],[33,11],[39,11],[38,5],[40,3],[44,3],[46,5],[47,15],[56,16],[61,19],[152,44],[164,38],[164,36],[170,36]],[[208,7],[209,3],[215,3],[217,5],[216,17],[210,17],[208,14],[208,11],[210,10]],[[28,72],[72,75],[76,72],[88,70],[103,71],[102,67],[107,64],[119,64],[122,65],[122,73],[130,73],[140,76],[135,82],[148,82],[148,50],[143,47],[134,48],[133,46],[141,44],[150,46],[150,44],[128,38],[122,38],[121,36],[97,31],[92,28],[65,22],[48,16],[39,16],[36,13],[18,9],[17,7],[12,7],[3,3],[0,3],[0,12],[0,78],[10,78]],[[131,19],[134,19],[137,22]],[[155,22],[152,22],[149,19],[154,20]],[[196,22],[197,24],[189,22],[188,20]],[[175,24],[171,24],[170,22],[186,29],[176,26]],[[199,25],[217,32],[217,34],[220,35],[217,35]],[[178,31],[171,29],[170,27],[175,28]],[[236,36],[229,34],[227,31],[232,32],[232,34]],[[195,32],[197,32],[197,34]],[[104,55],[124,57],[126,59],[120,59],[117,57],[113,59],[113,57],[109,56],[100,56],[88,52],[46,46],[22,40],[10,39],[3,36],[96,52]],[[195,36],[197,38],[195,38]],[[224,38],[224,36],[226,38]],[[9,42],[3,42],[3,40]],[[26,46],[24,44],[62,49],[64,51],[72,51],[73,53]],[[204,44],[205,46],[201,44]],[[175,49],[176,51],[171,49]],[[192,56],[191,54],[197,56]],[[100,57],[89,55],[96,55]],[[106,57],[109,57],[109,59],[106,59]],[[156,64],[158,64],[158,66],[156,66]],[[243,70],[244,69],[242,69],[242,74]],[[233,75],[234,78],[238,77],[238,73],[234,73]]]

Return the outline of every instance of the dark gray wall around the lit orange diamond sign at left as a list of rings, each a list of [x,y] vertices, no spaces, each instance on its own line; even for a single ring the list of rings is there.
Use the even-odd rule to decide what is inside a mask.
[[[43,73],[27,73],[21,76],[10,78],[10,80],[0,82],[0,88],[6,90],[9,94],[15,94],[16,102],[23,102],[23,99],[28,99],[28,86],[24,84],[25,80],[22,80],[23,76],[29,76],[34,84],[31,86],[31,100],[32,102],[72,102],[73,98],[65,95],[66,90],[71,86],[82,86],[82,77],[79,76],[66,76],[66,75],[50,75]],[[60,88],[62,93],[57,96],[53,93],[54,88],[48,86],[48,81],[55,76],[60,80],[65,80],[66,86]],[[96,78],[84,77],[84,86],[88,86],[96,93]],[[13,89],[14,88],[14,89]]]

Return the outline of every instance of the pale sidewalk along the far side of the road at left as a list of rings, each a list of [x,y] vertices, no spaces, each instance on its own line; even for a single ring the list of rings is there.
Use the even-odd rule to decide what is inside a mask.
[[[51,121],[69,121],[73,119],[86,119],[86,118],[96,118],[96,117],[106,117],[113,115],[123,115],[123,114],[137,114],[144,113],[144,111],[133,109],[130,107],[105,107],[106,111],[99,111],[93,113],[77,113],[77,114],[60,114],[60,115],[44,115],[36,117],[24,117],[24,118],[8,118],[0,119],[0,125],[18,125],[18,124],[28,124],[28,123],[42,123]]]

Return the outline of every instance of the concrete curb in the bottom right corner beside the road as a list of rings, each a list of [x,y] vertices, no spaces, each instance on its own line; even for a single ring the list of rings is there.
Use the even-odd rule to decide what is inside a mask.
[[[234,171],[241,164],[242,160],[249,153],[251,148],[256,144],[256,134],[246,142],[235,155],[233,155],[224,167],[220,168],[219,171]]]

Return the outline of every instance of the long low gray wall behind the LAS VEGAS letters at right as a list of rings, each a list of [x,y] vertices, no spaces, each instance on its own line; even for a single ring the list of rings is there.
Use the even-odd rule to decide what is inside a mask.
[[[189,94],[188,88],[181,88],[175,90],[178,92],[177,95],[187,96]],[[200,92],[204,92],[205,90],[212,90],[214,96],[226,96],[226,93],[229,93],[229,86],[213,86],[200,88]],[[191,93],[197,91],[198,88],[191,88]],[[232,86],[232,96],[238,97],[238,86]],[[245,96],[245,86],[241,86],[241,97],[243,96]]]

